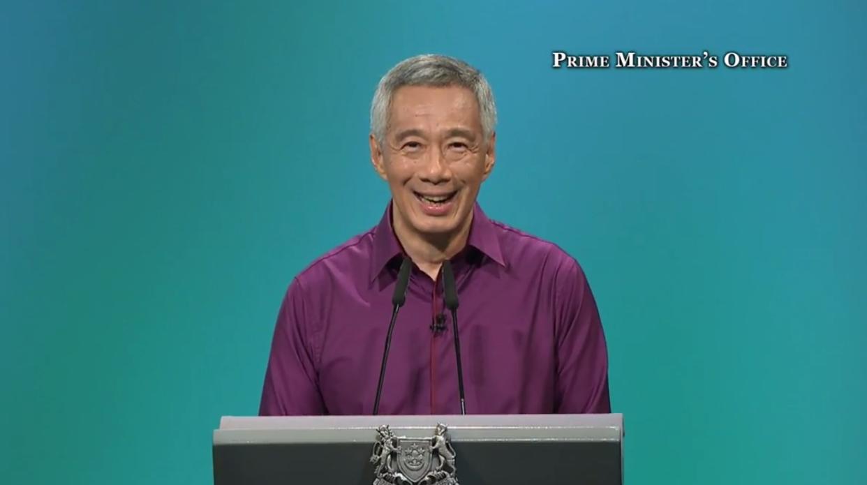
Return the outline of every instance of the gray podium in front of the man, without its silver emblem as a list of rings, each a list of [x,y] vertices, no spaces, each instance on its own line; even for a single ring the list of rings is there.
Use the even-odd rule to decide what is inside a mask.
[[[623,483],[623,415],[223,417],[215,485],[370,485],[377,428],[431,437],[447,425],[462,485]]]

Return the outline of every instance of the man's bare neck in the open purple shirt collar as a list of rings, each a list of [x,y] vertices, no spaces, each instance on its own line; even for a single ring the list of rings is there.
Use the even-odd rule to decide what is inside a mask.
[[[440,273],[442,263],[451,259],[466,246],[470,236],[470,226],[473,223],[473,212],[470,212],[466,221],[451,233],[444,234],[421,234],[413,230],[394,207],[392,209],[392,227],[394,236],[401,242],[403,250],[413,260],[422,272],[436,280]]]

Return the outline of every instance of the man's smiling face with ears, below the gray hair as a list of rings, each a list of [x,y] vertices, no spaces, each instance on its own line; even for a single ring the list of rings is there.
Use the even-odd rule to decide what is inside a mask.
[[[494,164],[479,103],[465,87],[405,86],[394,92],[381,146],[370,155],[394,199],[394,217],[421,234],[464,227]]]

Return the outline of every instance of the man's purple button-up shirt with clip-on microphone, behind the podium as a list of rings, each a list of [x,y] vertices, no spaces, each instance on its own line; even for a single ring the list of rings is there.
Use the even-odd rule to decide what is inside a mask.
[[[313,262],[280,308],[259,414],[369,415],[401,245],[391,204],[374,229]],[[582,269],[552,243],[488,219],[476,204],[452,258],[467,414],[608,413],[608,357]],[[413,268],[394,327],[380,414],[460,414],[451,316]]]

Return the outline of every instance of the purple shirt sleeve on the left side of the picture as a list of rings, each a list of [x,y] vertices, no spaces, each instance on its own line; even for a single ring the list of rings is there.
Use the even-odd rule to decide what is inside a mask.
[[[316,384],[316,358],[310,342],[309,315],[303,288],[295,279],[286,290],[265,371],[260,416],[305,416],[325,414]]]

